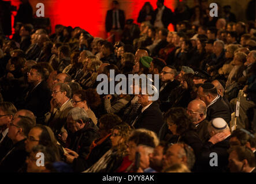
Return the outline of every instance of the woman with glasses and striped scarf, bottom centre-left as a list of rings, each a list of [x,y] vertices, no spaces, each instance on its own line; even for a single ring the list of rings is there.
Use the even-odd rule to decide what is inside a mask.
[[[123,162],[124,156],[127,155],[127,142],[130,132],[131,128],[128,124],[116,125],[110,136],[112,148],[84,173],[114,172]]]

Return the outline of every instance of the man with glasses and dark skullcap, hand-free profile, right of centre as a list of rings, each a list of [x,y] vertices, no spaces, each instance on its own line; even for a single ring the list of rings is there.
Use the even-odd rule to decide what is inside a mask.
[[[179,82],[175,79],[176,75],[177,70],[173,66],[165,66],[160,73],[161,88],[158,102],[162,111],[166,111],[169,108],[169,105],[165,102],[168,101],[168,96],[172,90],[179,86]]]

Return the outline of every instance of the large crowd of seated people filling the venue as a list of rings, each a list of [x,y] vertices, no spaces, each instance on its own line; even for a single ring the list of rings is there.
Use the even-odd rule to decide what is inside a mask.
[[[170,32],[145,6],[115,44],[79,25],[0,38],[0,172],[256,172],[256,24],[180,2]],[[159,75],[158,99],[142,82],[110,93],[113,71]]]

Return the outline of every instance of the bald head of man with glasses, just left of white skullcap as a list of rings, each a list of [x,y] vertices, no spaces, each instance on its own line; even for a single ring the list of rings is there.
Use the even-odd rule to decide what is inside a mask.
[[[194,124],[198,124],[205,120],[206,111],[206,104],[201,99],[192,100],[187,107],[187,113]]]

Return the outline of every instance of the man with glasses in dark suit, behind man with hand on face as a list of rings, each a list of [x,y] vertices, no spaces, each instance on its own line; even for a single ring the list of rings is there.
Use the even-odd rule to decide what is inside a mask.
[[[31,110],[36,116],[36,122],[44,124],[44,114],[50,110],[51,91],[44,81],[43,68],[32,66],[28,73],[28,83],[31,86],[25,94],[24,109]]]

